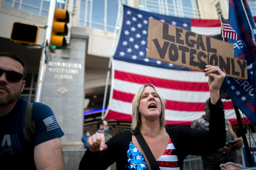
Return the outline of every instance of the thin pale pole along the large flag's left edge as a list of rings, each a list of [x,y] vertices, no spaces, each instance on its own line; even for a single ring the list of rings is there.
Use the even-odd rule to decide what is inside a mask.
[[[116,27],[118,25],[118,21],[119,21],[119,18],[120,18],[120,11],[121,11],[121,2],[118,1],[118,14],[117,14],[117,18],[116,18],[116,26],[115,26],[115,31],[114,31],[114,37],[113,37],[112,48],[111,48],[111,53],[110,53],[110,59],[109,59],[109,63],[108,63],[108,74],[107,74],[107,80],[106,80],[106,86],[105,86],[105,92],[104,92],[104,98],[103,98],[101,119],[104,119],[104,109],[105,109],[105,105],[106,105],[106,98],[107,98],[107,92],[108,92],[108,80],[109,80],[112,58],[114,56],[113,49],[114,49],[114,44],[115,44],[114,42],[115,42],[115,39],[116,39]]]

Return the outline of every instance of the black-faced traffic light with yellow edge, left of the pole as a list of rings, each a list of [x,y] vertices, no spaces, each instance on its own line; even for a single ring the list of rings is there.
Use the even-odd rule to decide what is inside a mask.
[[[38,40],[39,27],[26,23],[14,22],[10,40],[14,43],[36,45]]]

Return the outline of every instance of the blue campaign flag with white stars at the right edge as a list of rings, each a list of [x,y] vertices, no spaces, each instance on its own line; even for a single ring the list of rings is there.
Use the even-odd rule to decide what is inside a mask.
[[[234,43],[234,57],[247,60],[248,80],[227,77],[226,91],[233,103],[255,124],[255,68],[256,68],[256,27],[246,0],[229,0],[229,23],[239,35]]]

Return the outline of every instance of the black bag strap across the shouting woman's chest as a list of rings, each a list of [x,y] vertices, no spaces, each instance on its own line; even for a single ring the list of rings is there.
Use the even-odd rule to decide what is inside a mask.
[[[151,169],[152,170],[160,170],[154,155],[152,154],[150,148],[148,147],[148,144],[146,143],[144,137],[140,133],[140,128],[136,127],[136,129],[134,129],[134,130],[131,129],[131,132],[132,132],[132,135],[134,135],[136,137],[140,147],[142,148],[145,156],[147,157]]]

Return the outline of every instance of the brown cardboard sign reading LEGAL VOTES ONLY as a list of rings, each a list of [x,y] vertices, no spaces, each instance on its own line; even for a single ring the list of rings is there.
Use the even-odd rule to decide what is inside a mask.
[[[226,76],[247,79],[247,62],[234,58],[233,44],[149,19],[147,57],[204,72],[218,66]]]

